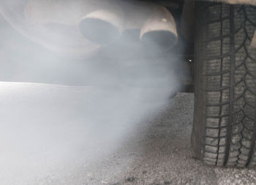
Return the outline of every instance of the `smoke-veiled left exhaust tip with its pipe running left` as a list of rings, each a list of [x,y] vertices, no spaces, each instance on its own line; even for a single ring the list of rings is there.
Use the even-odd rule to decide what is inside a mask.
[[[100,45],[116,39],[124,29],[124,11],[116,1],[30,0],[24,13],[32,25],[78,26],[80,34]]]

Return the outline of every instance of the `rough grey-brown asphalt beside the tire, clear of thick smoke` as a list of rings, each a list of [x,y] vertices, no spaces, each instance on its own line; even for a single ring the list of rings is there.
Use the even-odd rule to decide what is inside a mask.
[[[195,159],[192,116],[193,94],[177,94],[114,154],[84,165],[61,184],[255,184],[255,170],[209,167]]]

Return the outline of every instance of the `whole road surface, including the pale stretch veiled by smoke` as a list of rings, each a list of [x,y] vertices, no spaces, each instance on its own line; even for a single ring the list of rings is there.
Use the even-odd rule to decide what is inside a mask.
[[[119,110],[116,116],[120,114],[120,121],[115,119],[113,127],[103,127],[104,124],[86,129],[90,116],[94,115],[93,120],[96,118],[99,123],[101,119],[97,118],[104,113],[107,117],[102,118],[108,118],[109,114],[113,118],[115,111],[110,106],[100,107],[110,101],[113,108],[113,99],[116,99],[113,91],[31,83],[1,83],[0,88],[0,184],[256,182],[254,170],[209,167],[195,159],[190,146],[193,94],[177,94],[168,105],[162,105],[159,113],[147,111],[140,124],[131,127],[120,121],[124,122],[127,116],[130,120],[138,110],[121,116],[127,112],[124,106],[129,107],[131,101],[121,102],[121,107],[116,103]],[[97,92],[100,96],[96,96]],[[90,102],[99,102],[99,105]],[[95,113],[99,116],[95,117]],[[123,126],[129,131],[119,128]],[[113,143],[114,147],[104,143]]]

